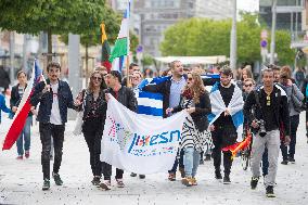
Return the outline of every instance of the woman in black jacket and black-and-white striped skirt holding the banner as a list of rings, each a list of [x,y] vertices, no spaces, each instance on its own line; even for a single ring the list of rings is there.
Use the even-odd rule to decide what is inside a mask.
[[[200,74],[193,72],[188,75],[180,104],[174,108],[167,108],[168,113],[187,110],[190,117],[183,125],[181,149],[184,150],[184,172],[182,183],[187,187],[196,185],[196,170],[200,165],[200,153],[211,149],[210,132],[207,131],[207,114],[211,112],[209,94],[205,90]]]

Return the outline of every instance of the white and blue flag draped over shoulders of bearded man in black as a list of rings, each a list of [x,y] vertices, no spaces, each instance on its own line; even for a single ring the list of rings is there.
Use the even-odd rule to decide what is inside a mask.
[[[236,128],[238,142],[240,142],[242,141],[243,124],[244,124],[244,114],[243,114],[244,101],[242,97],[242,91],[235,84],[233,84],[235,86],[234,92],[227,107],[218,89],[218,85],[219,82],[213,86],[209,94],[210,104],[211,104],[211,114],[209,114],[207,117],[209,125],[214,124],[214,121],[221,115],[221,113],[228,110],[231,114],[233,125]]]

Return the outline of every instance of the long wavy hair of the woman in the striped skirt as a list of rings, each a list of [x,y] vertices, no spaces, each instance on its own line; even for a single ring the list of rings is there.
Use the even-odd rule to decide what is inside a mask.
[[[192,75],[194,84],[191,88],[185,85],[183,92],[191,92],[193,95],[194,103],[200,103],[200,95],[206,92],[203,80],[201,78],[200,73],[197,72],[192,72],[190,75]]]

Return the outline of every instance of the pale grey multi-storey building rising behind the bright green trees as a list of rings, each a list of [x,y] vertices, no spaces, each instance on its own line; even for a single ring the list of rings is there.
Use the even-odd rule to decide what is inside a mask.
[[[108,0],[114,10],[123,11],[127,0]],[[139,36],[143,52],[161,56],[164,31],[180,20],[232,17],[232,0],[132,0],[131,29]]]

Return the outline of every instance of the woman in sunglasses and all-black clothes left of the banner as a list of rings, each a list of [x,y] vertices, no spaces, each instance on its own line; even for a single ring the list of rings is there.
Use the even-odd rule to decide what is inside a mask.
[[[79,105],[79,111],[84,111],[82,132],[90,152],[93,185],[100,184],[102,175],[101,140],[107,107],[104,88],[106,87],[102,74],[98,71],[93,72],[88,88],[82,90],[75,101],[75,104]]]

